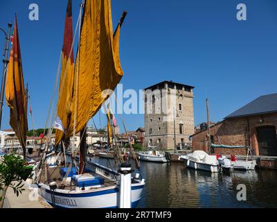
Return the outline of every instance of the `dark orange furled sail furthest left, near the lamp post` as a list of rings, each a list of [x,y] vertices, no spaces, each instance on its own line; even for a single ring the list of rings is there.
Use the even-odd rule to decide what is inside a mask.
[[[16,15],[11,42],[12,48],[6,80],[6,102],[10,107],[10,126],[15,130],[17,139],[23,148],[24,160],[26,160],[27,104]]]

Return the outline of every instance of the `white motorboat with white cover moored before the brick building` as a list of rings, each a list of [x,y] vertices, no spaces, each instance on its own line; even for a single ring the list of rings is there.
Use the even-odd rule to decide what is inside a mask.
[[[194,151],[188,155],[179,156],[179,160],[185,160],[186,167],[195,170],[209,171],[215,173],[219,171],[216,155],[208,155],[204,151]]]

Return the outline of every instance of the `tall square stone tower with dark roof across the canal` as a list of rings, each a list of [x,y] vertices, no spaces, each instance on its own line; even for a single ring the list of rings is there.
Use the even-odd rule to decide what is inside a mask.
[[[145,147],[172,150],[175,144],[180,148],[190,144],[195,133],[193,89],[172,81],[145,89]]]

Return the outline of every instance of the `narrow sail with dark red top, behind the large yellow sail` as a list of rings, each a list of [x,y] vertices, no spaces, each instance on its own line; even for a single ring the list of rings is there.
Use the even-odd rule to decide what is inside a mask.
[[[72,28],[72,2],[67,3],[66,19],[64,25],[64,44],[62,46],[62,70],[60,74],[60,90],[59,99],[57,101],[57,114],[62,121],[64,128],[69,127],[71,119],[71,96],[73,91],[73,28]],[[56,130],[55,146],[57,146],[62,138],[64,132]]]

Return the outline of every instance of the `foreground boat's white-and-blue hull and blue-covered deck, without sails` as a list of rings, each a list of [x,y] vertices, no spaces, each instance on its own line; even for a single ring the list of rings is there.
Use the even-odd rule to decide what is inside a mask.
[[[59,169],[52,169],[57,176]],[[62,169],[64,173],[64,169]],[[51,189],[51,185],[39,183],[39,195],[54,207],[66,208],[116,208],[119,207],[120,182],[105,181],[96,173],[83,173],[67,178],[66,187]],[[59,178],[59,176],[57,176]],[[72,182],[70,182],[72,180]],[[56,180],[58,181],[58,180]],[[132,178],[132,207],[141,199],[144,180]],[[103,201],[105,200],[105,201]]]

